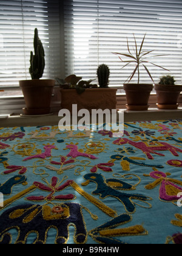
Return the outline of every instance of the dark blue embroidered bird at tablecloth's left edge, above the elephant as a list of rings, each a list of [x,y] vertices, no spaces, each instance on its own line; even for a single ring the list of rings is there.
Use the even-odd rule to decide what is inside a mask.
[[[7,180],[4,184],[0,183],[0,192],[4,195],[12,194],[13,186],[26,182],[27,177],[17,175]]]

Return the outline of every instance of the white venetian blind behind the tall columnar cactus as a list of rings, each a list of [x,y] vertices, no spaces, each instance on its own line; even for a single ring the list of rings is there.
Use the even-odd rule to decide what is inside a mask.
[[[35,27],[45,49],[42,79],[60,73],[59,0],[0,1],[0,87],[18,87],[31,79],[30,51]]]

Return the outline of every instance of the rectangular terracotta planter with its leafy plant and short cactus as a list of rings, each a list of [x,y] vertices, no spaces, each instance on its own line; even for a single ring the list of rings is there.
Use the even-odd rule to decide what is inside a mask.
[[[109,67],[99,65],[97,69],[99,86],[91,84],[94,80],[84,81],[75,74],[66,79],[56,79],[61,87],[61,107],[72,113],[72,105],[77,104],[77,110],[87,109],[92,113],[93,109],[116,109],[116,91],[109,88]]]

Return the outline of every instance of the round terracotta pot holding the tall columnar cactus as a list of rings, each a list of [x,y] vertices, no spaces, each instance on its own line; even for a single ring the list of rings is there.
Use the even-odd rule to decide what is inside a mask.
[[[46,115],[50,113],[50,101],[55,80],[21,80],[19,86],[24,94],[25,115]]]

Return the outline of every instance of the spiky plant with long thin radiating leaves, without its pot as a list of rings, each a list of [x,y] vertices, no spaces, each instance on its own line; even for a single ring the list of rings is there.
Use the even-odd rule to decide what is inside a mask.
[[[150,74],[150,71],[146,66],[147,63],[149,63],[151,65],[154,65],[154,66],[157,66],[158,68],[162,68],[164,70],[169,71],[168,69],[163,68],[162,66],[158,66],[158,65],[156,65],[152,62],[149,62],[149,60],[147,60],[147,55],[151,54],[154,50],[152,50],[152,51],[143,51],[143,44],[144,44],[144,40],[146,38],[146,34],[143,37],[143,41],[141,43],[140,49],[138,49],[138,45],[136,43],[136,38],[135,38],[134,34],[133,34],[133,37],[134,37],[134,40],[135,40],[135,48],[133,48],[133,53],[132,53],[132,51],[130,51],[128,38],[127,38],[127,49],[129,51],[129,54],[122,54],[122,53],[118,53],[118,52],[113,52],[113,54],[118,55],[121,62],[126,63],[126,65],[124,65],[123,68],[125,68],[126,66],[128,66],[130,64],[135,64],[136,65],[132,74],[130,74],[130,76],[127,78],[127,80],[129,80],[129,82],[130,82],[130,80],[132,80],[133,76],[135,76],[136,71],[138,71],[138,84],[140,84],[140,66],[141,65],[144,67],[144,69],[146,69],[147,74],[149,74],[150,79],[152,79],[152,81],[153,81],[152,75]],[[121,59],[120,55],[122,55],[124,57],[127,57],[130,60],[123,60],[123,59]],[[148,59],[151,59],[153,57],[160,57],[160,56],[164,56],[164,54],[163,55],[149,55]],[[127,80],[126,80],[126,82],[127,82]],[[153,83],[154,83],[154,81],[153,81]]]

